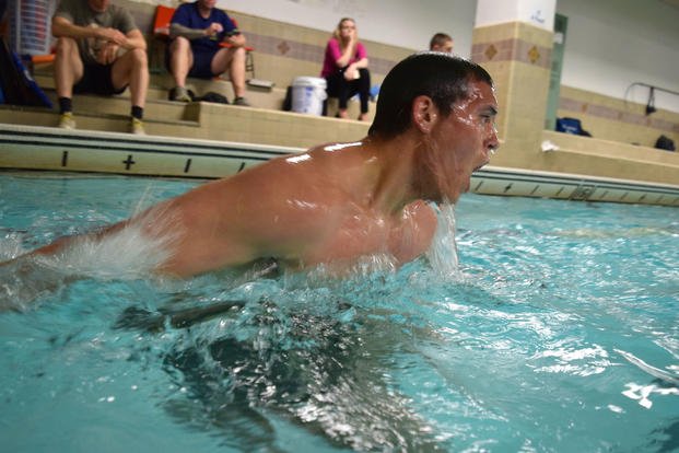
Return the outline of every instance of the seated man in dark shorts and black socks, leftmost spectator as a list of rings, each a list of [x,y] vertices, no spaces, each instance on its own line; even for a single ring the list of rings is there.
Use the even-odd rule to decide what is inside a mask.
[[[132,15],[110,0],[61,0],[51,22],[57,37],[55,83],[59,127],[75,128],[73,93],[119,94],[129,85],[132,133],[144,133],[149,88],[147,42]]]

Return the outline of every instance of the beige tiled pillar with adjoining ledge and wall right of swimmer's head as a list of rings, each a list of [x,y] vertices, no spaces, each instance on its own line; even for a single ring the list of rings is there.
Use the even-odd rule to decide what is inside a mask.
[[[545,131],[552,34],[506,23],[476,28],[472,42],[472,59],[493,77],[500,104],[503,144],[492,165],[679,183],[679,154],[646,148],[660,132],[674,137],[679,115],[646,118],[642,105],[563,86],[559,115],[577,116],[596,138]],[[543,152],[545,141],[558,150]],[[646,147],[625,144],[632,142]]]

